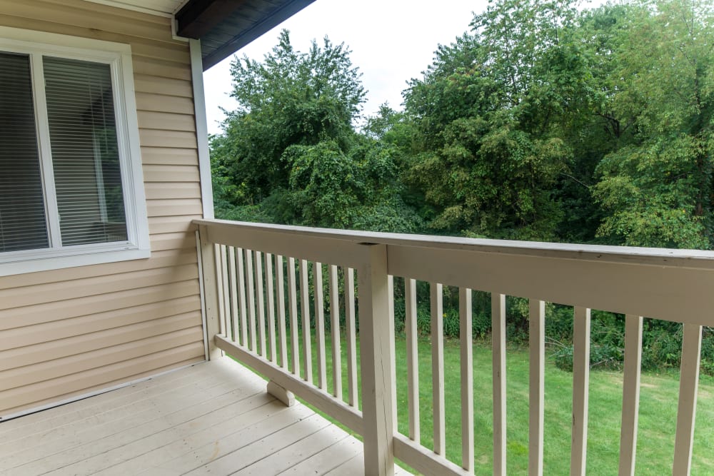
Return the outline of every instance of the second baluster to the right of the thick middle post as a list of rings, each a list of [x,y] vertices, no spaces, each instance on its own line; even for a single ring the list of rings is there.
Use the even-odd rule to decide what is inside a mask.
[[[446,455],[444,412],[444,325],[443,285],[431,283],[431,392],[434,417],[434,452]]]

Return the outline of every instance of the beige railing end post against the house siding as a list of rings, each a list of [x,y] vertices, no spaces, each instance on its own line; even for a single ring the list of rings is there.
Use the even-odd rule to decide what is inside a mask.
[[[218,318],[218,280],[216,279],[216,245],[208,241],[208,227],[198,227],[198,253],[201,266],[201,289],[203,290],[203,313],[206,315],[206,337],[208,340],[208,359],[213,360],[223,355],[223,351],[213,343],[213,336],[219,332]]]

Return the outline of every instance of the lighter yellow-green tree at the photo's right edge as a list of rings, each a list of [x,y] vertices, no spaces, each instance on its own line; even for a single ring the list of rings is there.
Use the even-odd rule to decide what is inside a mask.
[[[620,109],[640,111],[632,143],[598,166],[598,234],[626,245],[710,248],[714,9],[696,0],[640,4],[617,51]],[[635,98],[635,100],[633,100]]]

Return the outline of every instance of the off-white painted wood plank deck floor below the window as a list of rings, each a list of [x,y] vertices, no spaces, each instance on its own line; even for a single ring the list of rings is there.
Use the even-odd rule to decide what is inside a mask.
[[[0,474],[363,474],[361,442],[265,388],[221,358],[2,422]]]

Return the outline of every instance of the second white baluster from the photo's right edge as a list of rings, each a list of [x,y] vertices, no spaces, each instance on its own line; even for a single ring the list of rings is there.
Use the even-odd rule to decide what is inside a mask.
[[[637,422],[642,369],[642,316],[625,315],[625,365],[623,369],[623,417],[620,427],[620,476],[635,475]]]

